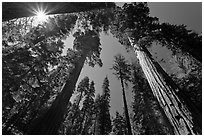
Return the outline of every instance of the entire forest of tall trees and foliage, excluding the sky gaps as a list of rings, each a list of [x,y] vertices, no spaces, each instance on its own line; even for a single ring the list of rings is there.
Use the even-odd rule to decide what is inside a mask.
[[[147,3],[75,6],[71,13],[62,9],[37,23],[36,16],[15,13],[2,22],[2,134],[202,134],[202,35],[159,22]],[[113,116],[108,76],[100,94],[88,76],[79,81],[84,64],[105,63],[102,33],[135,53],[132,62],[114,56],[110,69],[121,85],[123,111]],[[70,36],[73,47],[62,54]],[[168,74],[152,56],[149,48],[157,45],[173,53],[182,76]]]

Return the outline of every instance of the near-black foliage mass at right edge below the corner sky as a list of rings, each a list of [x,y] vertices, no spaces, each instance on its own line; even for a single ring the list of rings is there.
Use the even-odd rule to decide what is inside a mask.
[[[171,25],[161,23],[158,25],[159,31],[155,35],[156,39],[174,54],[181,51],[183,54],[190,54],[198,61],[202,62],[202,36],[187,30],[185,25]]]

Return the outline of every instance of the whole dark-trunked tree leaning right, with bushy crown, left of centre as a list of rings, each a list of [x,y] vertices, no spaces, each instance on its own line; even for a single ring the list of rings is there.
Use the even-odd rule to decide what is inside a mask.
[[[77,54],[74,68],[49,110],[30,126],[29,134],[57,134],[84,63],[102,66],[99,32],[108,30],[113,15],[109,13],[110,10],[96,10],[78,14],[76,32],[73,34],[73,48]]]

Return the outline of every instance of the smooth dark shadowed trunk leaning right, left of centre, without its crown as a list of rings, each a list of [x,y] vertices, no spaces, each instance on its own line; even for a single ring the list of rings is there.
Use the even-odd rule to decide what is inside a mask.
[[[63,122],[68,102],[72,96],[76,82],[84,65],[88,51],[81,52],[81,57],[75,64],[69,79],[64,84],[61,93],[45,114],[36,119],[28,130],[28,134],[55,135]]]

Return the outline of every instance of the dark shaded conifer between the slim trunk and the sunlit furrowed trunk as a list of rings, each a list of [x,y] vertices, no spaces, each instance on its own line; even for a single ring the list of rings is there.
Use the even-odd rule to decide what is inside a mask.
[[[167,116],[153,96],[139,62],[132,64],[133,129],[135,134],[174,134]]]

